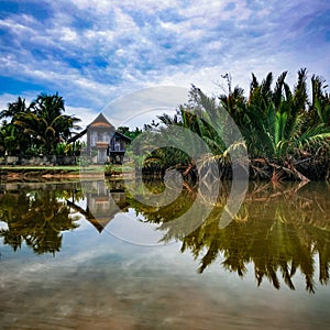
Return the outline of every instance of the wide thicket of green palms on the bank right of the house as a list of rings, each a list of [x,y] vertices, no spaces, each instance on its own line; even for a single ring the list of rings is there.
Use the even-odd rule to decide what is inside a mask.
[[[245,147],[251,160],[252,178],[328,179],[330,96],[326,80],[312,75],[310,85],[307,85],[304,68],[290,88],[285,81],[286,76],[287,72],[283,73],[272,87],[272,73],[262,82],[252,75],[248,98],[242,88],[232,89],[229,75],[224,76],[228,81],[226,95],[208,97],[193,86],[189,102],[180,106],[174,117],[161,116],[162,124],[154,132],[161,136],[172,125],[178,125],[198,134],[218,160],[224,177],[231,175],[230,151]],[[223,136],[229,136],[232,128],[223,113],[229,113],[234,120],[242,141],[226,145]],[[138,150],[143,150],[143,143],[152,144],[153,140],[144,139]],[[158,148],[150,153],[144,169],[161,168],[164,172],[168,167],[183,167],[187,174],[189,169],[194,170],[196,161],[199,160],[190,160],[172,147]]]

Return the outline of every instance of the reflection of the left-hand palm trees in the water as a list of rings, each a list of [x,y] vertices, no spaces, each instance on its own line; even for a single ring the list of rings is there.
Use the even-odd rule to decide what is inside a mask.
[[[25,241],[38,254],[59,251],[61,232],[77,224],[69,207],[55,196],[52,190],[21,190],[16,198],[6,194],[1,200],[1,220],[8,229],[0,231],[4,244],[15,251]]]

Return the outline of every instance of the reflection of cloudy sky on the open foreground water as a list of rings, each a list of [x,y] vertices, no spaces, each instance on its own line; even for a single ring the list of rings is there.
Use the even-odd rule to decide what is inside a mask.
[[[179,254],[178,246],[122,244],[116,254],[108,241],[110,252],[102,257],[99,241],[90,243],[80,241],[78,253],[86,256],[87,249],[98,249],[98,254],[79,262],[35,255],[28,261],[30,271],[26,264],[7,263],[1,270],[1,326],[301,329],[329,319],[324,287],[312,299],[299,289],[279,295],[267,282],[256,288],[253,272],[243,280],[218,267],[196,274],[193,257]]]

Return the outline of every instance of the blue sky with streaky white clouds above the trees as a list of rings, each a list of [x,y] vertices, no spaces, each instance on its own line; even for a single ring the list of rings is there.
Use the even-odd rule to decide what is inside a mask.
[[[122,125],[184,102],[191,84],[223,94],[227,73],[245,95],[252,73],[294,84],[307,67],[330,81],[330,2],[0,0],[0,109],[57,91],[82,127],[105,109]],[[141,90],[156,102],[132,107]]]

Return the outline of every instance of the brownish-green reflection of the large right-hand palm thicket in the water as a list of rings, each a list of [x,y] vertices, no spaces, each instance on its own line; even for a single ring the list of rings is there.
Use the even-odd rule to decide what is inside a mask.
[[[222,266],[239,276],[244,276],[246,264],[252,262],[257,285],[267,278],[279,288],[280,274],[284,283],[295,289],[293,278],[300,270],[306,289],[314,293],[316,254],[319,256],[319,280],[321,284],[329,280],[330,226],[323,210],[330,209],[330,205],[328,199],[321,199],[322,196],[311,195],[308,186],[282,186],[273,190],[271,185],[265,185],[263,189],[252,189],[241,209],[244,212],[241,218],[249,215],[248,220],[242,222],[238,217],[227,228],[219,229],[224,199],[199,228],[185,238],[180,238],[172,220],[194,201],[194,198],[188,198],[185,205],[187,191],[185,198],[177,200],[178,204],[175,201],[158,211],[136,201],[133,207],[146,221],[161,223],[161,230],[166,231],[165,241],[180,239],[182,252],[190,251],[195,258],[200,257],[200,273],[223,256]]]

